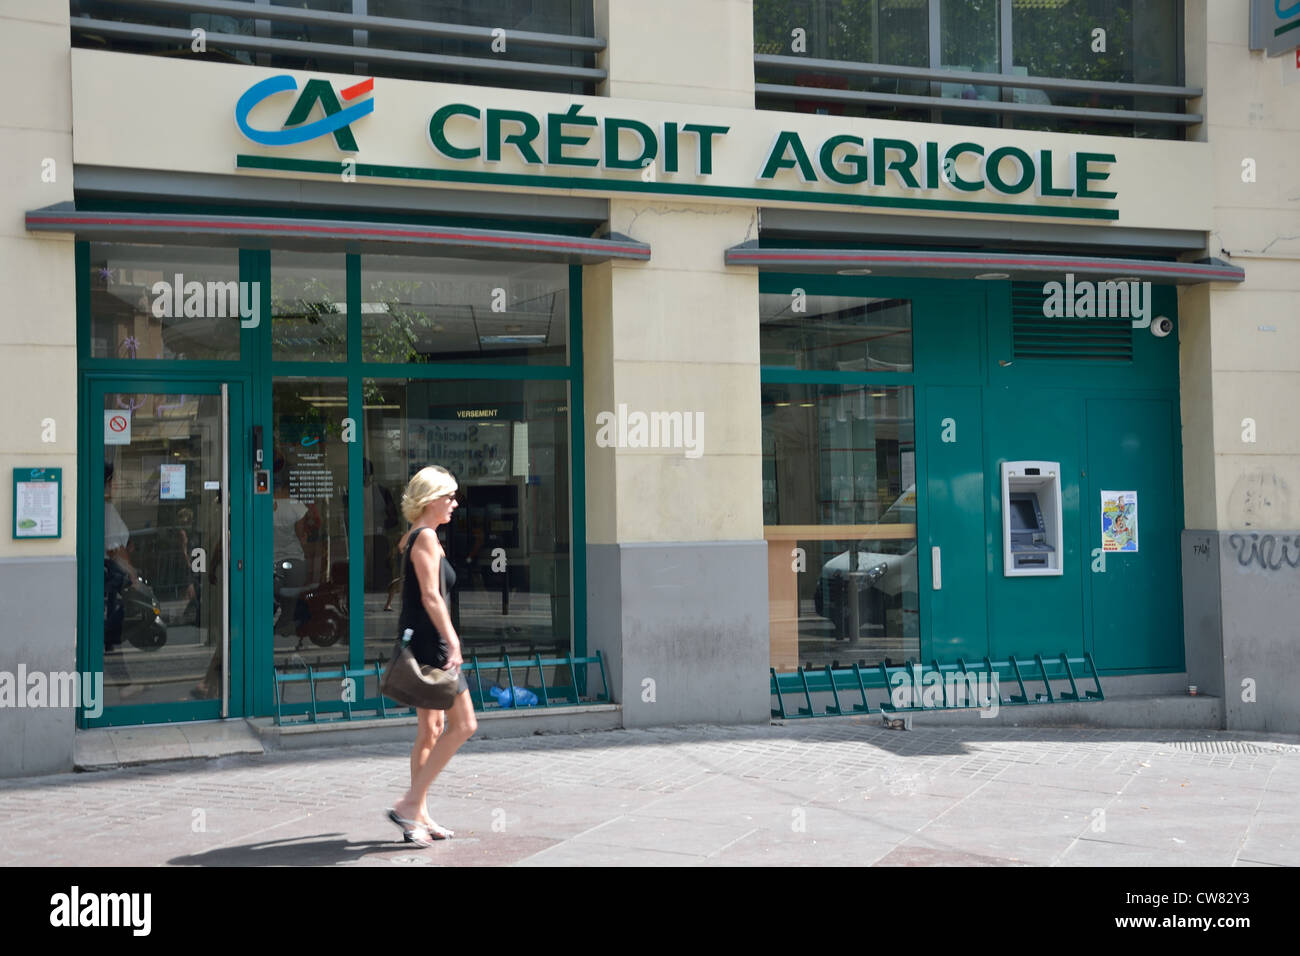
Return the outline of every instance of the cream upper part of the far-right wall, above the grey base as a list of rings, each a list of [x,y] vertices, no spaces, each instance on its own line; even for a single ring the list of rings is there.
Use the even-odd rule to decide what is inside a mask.
[[[1213,418],[1201,424],[1213,425],[1213,437],[1201,431],[1187,463],[1204,463],[1204,442],[1212,441],[1214,477],[1210,486],[1187,496],[1188,518],[1193,511],[1202,514],[1213,493],[1213,527],[1280,531],[1300,527],[1300,431],[1295,427],[1300,407],[1300,311],[1295,307],[1300,294],[1300,85],[1282,85],[1288,57],[1248,51],[1245,4],[1212,3],[1208,16],[1205,113],[1214,155],[1209,251],[1244,268],[1245,282],[1197,291],[1206,297],[1210,316]],[[1252,165],[1253,181],[1243,181],[1252,178]],[[1193,363],[1200,372],[1205,342],[1197,341],[1196,347]],[[1244,419],[1254,421],[1253,441]],[[1197,525],[1188,520],[1188,527]]]

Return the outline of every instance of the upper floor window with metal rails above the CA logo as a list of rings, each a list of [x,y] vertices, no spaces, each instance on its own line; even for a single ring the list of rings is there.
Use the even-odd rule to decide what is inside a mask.
[[[70,3],[95,49],[563,94],[604,77],[592,0]]]

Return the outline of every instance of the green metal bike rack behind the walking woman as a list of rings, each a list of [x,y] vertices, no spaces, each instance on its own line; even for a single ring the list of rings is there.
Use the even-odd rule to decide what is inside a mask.
[[[350,669],[334,669],[334,670],[315,670],[311,665],[306,665],[303,671],[283,671],[278,667],[273,667],[276,675],[276,724],[283,723],[333,723],[338,721],[354,721],[360,718],[373,719],[386,718],[386,717],[410,717],[415,714],[415,708],[408,708],[402,704],[395,704],[390,698],[378,693],[378,682],[384,675],[385,658],[378,658],[374,663],[367,665],[365,667],[350,670]],[[603,692],[601,695],[585,696],[582,689],[588,684],[588,667],[597,666],[601,669],[601,687]],[[532,706],[517,705],[520,710],[532,710],[542,708],[556,708],[556,706],[573,706],[578,704],[608,704],[610,702],[610,684],[604,676],[604,658],[601,652],[595,652],[593,657],[573,657],[572,654],[566,654],[564,657],[542,657],[541,654],[534,654],[533,657],[524,658],[523,661],[511,662],[508,654],[503,654],[499,661],[480,661],[477,656],[471,656],[469,661],[462,665],[462,671],[465,674],[465,680],[469,683],[469,698],[473,701],[474,710],[514,710],[516,704],[514,701],[514,695],[511,695],[511,704],[502,708],[494,698],[485,697],[484,695],[484,672],[495,670],[495,678],[500,678],[500,671],[506,672],[504,687],[516,687],[515,672],[517,669],[523,667],[524,676],[523,683],[517,687],[523,687],[537,695],[537,704]],[[537,669],[537,685],[529,685],[528,679],[533,669]],[[560,684],[558,687],[547,687],[546,676],[543,672],[545,667],[560,667],[568,671],[569,684]],[[365,680],[368,678],[374,678],[374,696],[363,697],[358,702],[348,701],[346,697],[339,695],[338,700],[320,700],[316,695],[316,683],[320,680],[334,680],[343,682],[352,679],[358,683],[359,688],[365,687]],[[309,698],[302,704],[285,704],[282,688],[286,684],[306,683],[309,691]],[[490,683],[499,683],[499,680],[493,680]],[[337,714],[334,717],[321,717],[321,714]],[[299,719],[285,721],[285,717],[296,717]]]

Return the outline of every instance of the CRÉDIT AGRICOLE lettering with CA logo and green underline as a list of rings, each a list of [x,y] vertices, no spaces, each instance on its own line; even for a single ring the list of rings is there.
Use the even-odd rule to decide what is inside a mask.
[[[354,124],[374,112],[374,81],[364,79],[335,94],[324,79],[309,79],[296,99],[296,79],[276,75],[250,87],[238,100],[235,122],[246,138],[266,147],[289,147],[333,137],[339,152],[358,152]],[[365,99],[363,99],[365,98]],[[255,126],[251,113],[266,103],[282,104],[280,129]],[[350,103],[344,107],[343,103]],[[564,112],[533,112],[472,103],[437,105],[424,139],[437,166],[393,166],[306,160],[283,156],[237,157],[243,169],[424,179],[494,182],[552,189],[763,198],[854,206],[932,208],[1004,215],[1049,215],[1114,220],[1118,211],[1096,200],[1113,200],[1105,189],[1114,153],[1010,144],[867,137],[836,133],[810,138],[798,130],[775,133],[764,152],[750,160],[751,187],[715,185],[718,166],[736,163],[727,155],[732,127],[702,122],[646,122],[633,117],[595,116],[586,104]],[[320,114],[312,120],[313,114]],[[755,116],[776,116],[758,113]],[[968,131],[966,131],[968,135]],[[364,135],[364,133],[363,133]],[[956,142],[954,142],[956,140]],[[500,164],[512,170],[499,172]],[[450,164],[450,165],[448,165]],[[728,177],[734,182],[734,177]],[[810,189],[811,187],[811,189]],[[818,189],[820,187],[820,189]],[[852,189],[844,189],[852,187]],[[982,194],[982,195],[980,195]],[[1034,204],[978,202],[1031,195]],[[1080,203],[1079,200],[1084,200]],[[1088,202],[1092,200],[1092,202]]]

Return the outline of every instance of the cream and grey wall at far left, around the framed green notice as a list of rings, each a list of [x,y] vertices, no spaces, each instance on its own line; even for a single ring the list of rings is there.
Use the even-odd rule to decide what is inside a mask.
[[[73,241],[23,216],[73,198],[68,4],[0,5],[0,672],[74,666],[77,323]],[[53,434],[51,436],[51,421]],[[49,438],[53,441],[49,441]],[[62,468],[61,540],[13,540],[13,470]],[[20,688],[23,691],[25,688]],[[72,709],[0,708],[0,775],[73,763]]]

